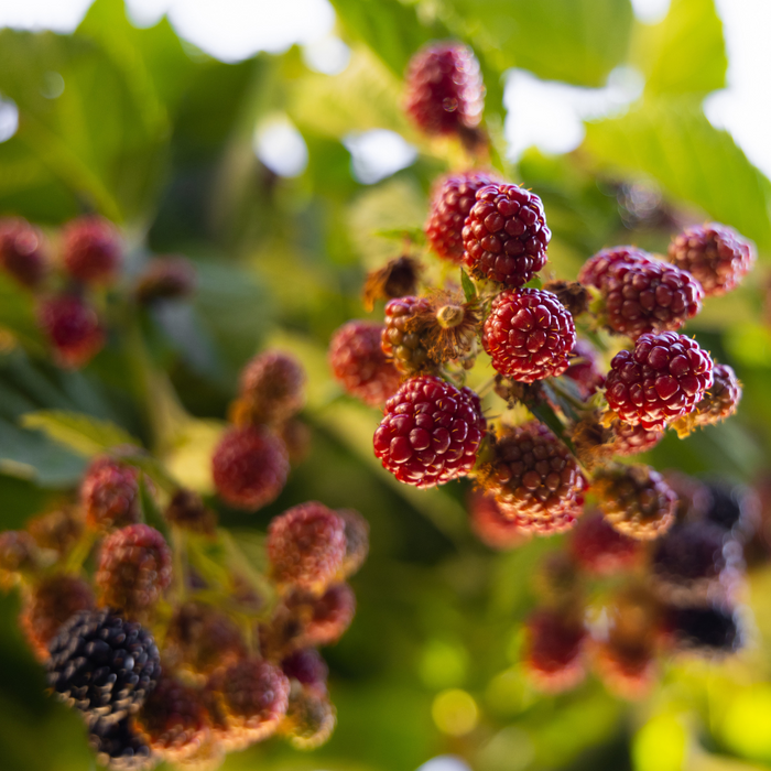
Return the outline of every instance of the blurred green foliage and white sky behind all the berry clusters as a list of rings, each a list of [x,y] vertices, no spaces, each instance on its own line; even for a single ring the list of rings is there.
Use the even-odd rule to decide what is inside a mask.
[[[771,464],[771,6],[767,0],[0,0],[0,215],[55,234],[84,210],[123,228],[128,271],[150,253],[195,261],[192,303],[142,319],[180,402],[166,461],[204,480],[239,368],[280,346],[308,369],[313,452],[280,499],[222,513],[248,537],[319,499],[371,523],[359,610],[326,651],[338,728],[302,754],[270,741],[226,769],[729,771],[771,765],[771,572],[751,574],[750,649],[723,665],[672,664],[629,705],[596,681],[544,697],[523,676],[532,576],[561,539],[493,554],[469,533],[466,488],[417,492],[371,457],[377,413],[330,381],[332,332],[366,314],[367,270],[420,228],[432,180],[461,163],[406,122],[401,79],[432,39],[458,37],[486,78],[495,162],[542,196],[552,269],[597,249],[662,251],[683,221],[754,240],[741,290],[687,327],[745,382],[737,417],[650,455],[660,469],[757,484]],[[148,444],[126,341],[82,372],[41,355],[31,300],[0,278],[0,524],[20,526],[77,485],[84,459],[19,419],[65,409]],[[380,308],[373,314],[378,317]],[[7,337],[7,336],[6,336]],[[180,410],[180,408],[184,410]],[[761,561],[762,562],[762,561]],[[89,769],[78,718],[0,598],[0,768]]]

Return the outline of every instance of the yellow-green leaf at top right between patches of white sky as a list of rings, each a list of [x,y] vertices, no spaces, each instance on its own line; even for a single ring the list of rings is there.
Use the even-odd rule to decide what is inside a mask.
[[[645,94],[708,94],[726,85],[726,45],[714,0],[672,0],[666,18],[639,25],[634,62]]]

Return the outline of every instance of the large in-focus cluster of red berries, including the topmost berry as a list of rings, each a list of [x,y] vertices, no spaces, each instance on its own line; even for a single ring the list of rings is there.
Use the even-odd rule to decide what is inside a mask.
[[[420,128],[463,139],[477,127],[481,82],[473,61],[453,43],[414,57],[408,112]],[[420,488],[473,477],[512,532],[569,529],[586,495],[626,535],[665,532],[673,491],[648,466],[613,457],[652,448],[666,428],[684,436],[736,410],[734,371],[677,330],[705,296],[736,286],[752,267],[752,246],[726,226],[692,227],[666,258],[605,249],[577,282],[542,289],[551,231],[541,199],[477,170],[436,182],[425,236],[433,254],[460,268],[458,284],[419,293],[419,261],[399,258],[367,280],[368,305],[387,301],[384,324],[350,322],[329,347],[340,386],[383,406],[373,438],[383,467]],[[412,281],[393,282],[405,260]],[[576,326],[608,349],[627,345],[609,371]],[[464,387],[480,351],[507,406],[523,405],[539,420],[486,416],[479,395]]]

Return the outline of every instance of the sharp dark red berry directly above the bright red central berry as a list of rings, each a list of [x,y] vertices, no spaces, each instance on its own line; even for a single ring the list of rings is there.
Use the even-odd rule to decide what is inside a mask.
[[[546,264],[552,238],[543,204],[519,185],[477,191],[463,229],[464,263],[478,279],[522,286]]]

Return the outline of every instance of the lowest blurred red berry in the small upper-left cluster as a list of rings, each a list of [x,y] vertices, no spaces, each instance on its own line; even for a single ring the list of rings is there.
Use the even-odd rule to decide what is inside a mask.
[[[75,295],[62,294],[42,301],[37,317],[59,367],[78,369],[105,345],[105,333],[96,311]]]

